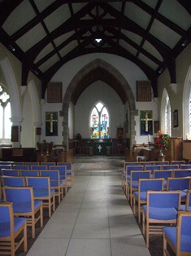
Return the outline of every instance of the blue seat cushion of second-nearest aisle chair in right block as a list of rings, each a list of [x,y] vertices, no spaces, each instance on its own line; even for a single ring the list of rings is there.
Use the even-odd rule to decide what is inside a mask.
[[[146,205],[143,205],[142,209],[146,216]],[[177,210],[175,208],[150,207],[149,218],[160,219],[160,220],[176,219]]]

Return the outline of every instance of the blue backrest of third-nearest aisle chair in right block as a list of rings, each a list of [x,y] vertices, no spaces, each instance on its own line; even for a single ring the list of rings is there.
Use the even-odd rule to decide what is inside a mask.
[[[144,192],[147,190],[163,190],[164,179],[139,179],[140,191]]]

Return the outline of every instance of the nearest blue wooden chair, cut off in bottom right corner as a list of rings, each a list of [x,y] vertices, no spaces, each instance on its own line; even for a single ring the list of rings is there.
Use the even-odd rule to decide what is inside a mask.
[[[176,256],[191,255],[191,213],[178,213],[176,227],[163,227],[163,256],[170,255],[170,246]]]

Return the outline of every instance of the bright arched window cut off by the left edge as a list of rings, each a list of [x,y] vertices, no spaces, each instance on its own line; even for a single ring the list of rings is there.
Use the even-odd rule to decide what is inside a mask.
[[[11,104],[7,90],[0,85],[0,143],[11,143]]]

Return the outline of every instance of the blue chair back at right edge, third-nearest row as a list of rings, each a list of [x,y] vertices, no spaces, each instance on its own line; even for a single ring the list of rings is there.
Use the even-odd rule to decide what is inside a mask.
[[[167,178],[167,190],[185,190],[190,188],[190,179],[184,178]]]

